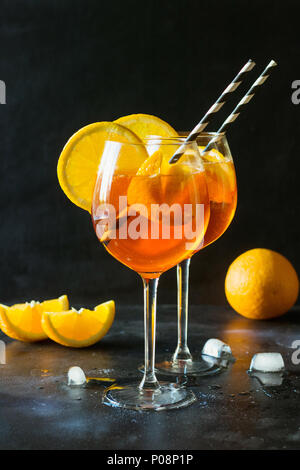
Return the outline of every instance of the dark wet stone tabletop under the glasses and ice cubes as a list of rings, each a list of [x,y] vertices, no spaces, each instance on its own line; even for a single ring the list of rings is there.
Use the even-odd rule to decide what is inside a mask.
[[[190,347],[209,337],[227,342],[236,362],[223,374],[193,383],[197,402],[169,412],[137,412],[101,404],[103,387],[70,388],[68,368],[88,376],[138,375],[143,361],[141,306],[117,307],[109,334],[87,349],[45,341],[6,342],[0,366],[1,449],[299,449],[300,364],[292,343],[300,340],[300,310],[254,322],[227,307],[190,309]],[[157,355],[176,343],[176,308],[159,306]],[[281,387],[263,389],[246,373],[256,352],[281,352],[289,374]],[[300,354],[299,354],[300,357]]]

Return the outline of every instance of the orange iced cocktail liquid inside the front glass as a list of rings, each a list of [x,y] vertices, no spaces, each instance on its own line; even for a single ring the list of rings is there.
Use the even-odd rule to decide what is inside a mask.
[[[201,246],[209,220],[203,169],[115,174],[105,201],[101,185],[98,178],[92,208],[95,232],[107,251],[129,268],[147,278],[157,277]],[[103,210],[109,206],[116,218],[110,229]]]

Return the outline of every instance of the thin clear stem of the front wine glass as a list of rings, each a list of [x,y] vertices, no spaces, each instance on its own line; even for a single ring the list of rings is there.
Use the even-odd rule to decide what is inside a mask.
[[[155,376],[156,293],[158,278],[143,278],[143,284],[145,365],[144,376],[139,388],[143,391],[155,391],[159,389],[159,383]]]

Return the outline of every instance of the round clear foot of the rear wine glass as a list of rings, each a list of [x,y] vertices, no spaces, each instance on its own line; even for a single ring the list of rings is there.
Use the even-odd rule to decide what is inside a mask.
[[[188,360],[166,360],[155,365],[157,373],[203,377],[220,374],[228,367],[228,361],[201,354]]]

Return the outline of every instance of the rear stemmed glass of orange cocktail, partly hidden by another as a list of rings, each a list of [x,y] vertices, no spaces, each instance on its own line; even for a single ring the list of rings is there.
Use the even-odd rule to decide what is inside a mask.
[[[184,133],[182,133],[184,134]],[[197,139],[200,153],[215,137],[209,153],[201,155],[210,200],[210,219],[199,249],[215,242],[230,225],[237,204],[237,185],[232,155],[224,133],[202,133]],[[198,250],[195,250],[196,253]],[[193,253],[193,254],[194,254]],[[191,256],[177,265],[178,340],[171,358],[157,364],[158,371],[193,376],[212,375],[222,370],[223,362],[202,355],[193,356],[188,347],[188,288]]]

